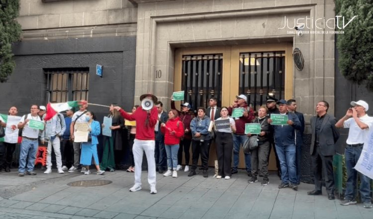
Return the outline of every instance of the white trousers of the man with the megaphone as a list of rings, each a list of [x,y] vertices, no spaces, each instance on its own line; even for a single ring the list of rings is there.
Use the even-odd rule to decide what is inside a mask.
[[[154,159],[154,140],[139,140],[133,141],[133,159],[135,161],[135,184],[141,186],[141,165],[142,156],[145,151],[146,159],[148,160],[148,183],[149,185],[156,185],[156,165]]]

